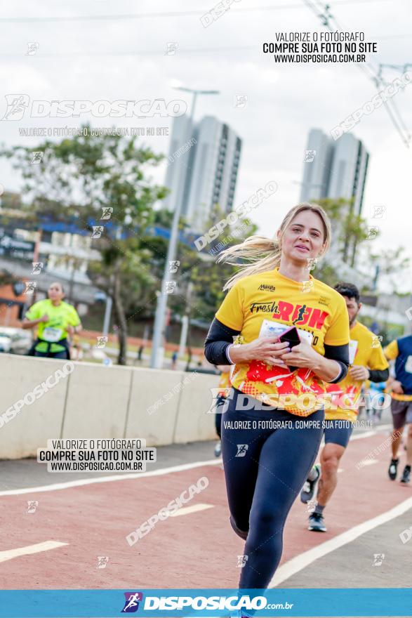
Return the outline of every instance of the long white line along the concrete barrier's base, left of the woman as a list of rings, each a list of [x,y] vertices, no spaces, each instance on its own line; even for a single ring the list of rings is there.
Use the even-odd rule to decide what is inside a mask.
[[[119,474],[112,476],[100,476],[98,478],[86,478],[84,480],[69,480],[62,483],[53,483],[51,485],[41,485],[40,487],[24,487],[22,489],[6,489],[0,492],[1,496],[20,496],[20,494],[37,494],[39,492],[55,492],[58,489],[69,489],[70,487],[82,487],[83,485],[94,485],[101,482],[114,482],[117,480],[127,480],[131,478],[142,478],[147,476],[161,476],[172,472],[182,472],[191,470],[192,468],[201,468],[201,466],[218,466],[222,463],[221,459],[208,459],[207,461],[195,461],[194,463],[182,463],[180,466],[171,466],[171,468],[160,468],[151,472],[140,472],[131,474]]]

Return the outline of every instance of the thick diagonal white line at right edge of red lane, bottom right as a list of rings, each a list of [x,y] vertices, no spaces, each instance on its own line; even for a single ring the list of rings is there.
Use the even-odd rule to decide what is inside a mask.
[[[351,543],[358,537],[361,537],[362,534],[369,532],[369,530],[373,530],[386,522],[399,517],[399,515],[403,515],[412,508],[412,498],[408,498],[401,504],[397,504],[394,508],[391,508],[390,511],[386,511],[386,513],[382,513],[373,519],[367,520],[366,522],[362,522],[361,524],[350,528],[343,534],[338,534],[337,537],[330,539],[329,541],[325,541],[325,543],[321,543],[308,551],[304,551],[300,553],[300,555],[295,556],[291,560],[288,560],[287,563],[281,565],[277,572],[274,574],[272,581],[270,582],[269,587],[274,588],[279,586],[283,581],[292,577],[295,573],[298,573],[305,567],[311,565],[315,560],[322,558],[324,555],[331,553],[331,551],[335,551],[346,545]]]

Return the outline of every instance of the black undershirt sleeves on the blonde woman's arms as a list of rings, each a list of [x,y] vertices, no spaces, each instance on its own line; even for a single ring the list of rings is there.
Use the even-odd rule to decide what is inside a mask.
[[[231,329],[216,318],[213,319],[211,327],[206,336],[204,355],[211,364],[232,364],[227,358],[226,350],[233,343],[234,336],[237,336],[240,331]],[[342,381],[349,367],[349,345],[345,346],[328,346],[324,344],[325,357],[330,360],[335,360],[340,365],[340,373],[330,383]]]

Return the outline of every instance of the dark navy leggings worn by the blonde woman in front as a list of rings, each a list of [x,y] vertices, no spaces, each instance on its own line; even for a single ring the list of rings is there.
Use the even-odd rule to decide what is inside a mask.
[[[286,517],[316,459],[321,443],[324,411],[307,420],[319,428],[296,427],[304,421],[284,410],[257,404],[256,409],[236,410],[239,390],[232,389],[222,416],[222,458],[225,469],[230,522],[246,539],[246,563],[240,588],[267,588],[277,570],[283,548]],[[269,408],[269,409],[268,409]],[[228,428],[227,421],[291,421],[293,428]],[[251,423],[251,427],[253,424]],[[244,447],[248,445],[244,456]]]

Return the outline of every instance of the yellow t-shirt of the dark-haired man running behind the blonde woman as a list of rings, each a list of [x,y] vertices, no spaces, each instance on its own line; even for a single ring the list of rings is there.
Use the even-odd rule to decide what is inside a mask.
[[[389,364],[376,335],[357,322],[349,331],[350,364],[367,369],[387,369]],[[348,373],[338,384],[329,384],[327,391],[331,400],[325,403],[325,419],[356,421],[359,409],[359,394],[363,381],[354,380]]]

